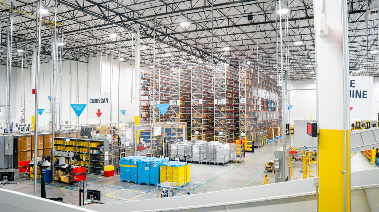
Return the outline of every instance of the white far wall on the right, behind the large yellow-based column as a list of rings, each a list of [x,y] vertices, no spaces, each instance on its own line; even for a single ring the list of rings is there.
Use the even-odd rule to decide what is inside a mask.
[[[316,88],[316,83],[313,80],[290,81],[289,87],[289,89]],[[290,105],[293,105],[292,109],[290,110],[291,125],[293,125],[294,120],[315,120],[316,90],[290,91]],[[332,105],[330,105],[330,108],[330,110],[333,110]],[[379,79],[374,79],[372,120],[377,120],[377,113],[379,113]]]

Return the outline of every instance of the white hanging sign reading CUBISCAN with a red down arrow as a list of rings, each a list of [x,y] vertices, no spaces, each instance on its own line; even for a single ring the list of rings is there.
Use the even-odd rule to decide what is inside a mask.
[[[88,119],[110,119],[111,94],[94,93],[88,95]]]

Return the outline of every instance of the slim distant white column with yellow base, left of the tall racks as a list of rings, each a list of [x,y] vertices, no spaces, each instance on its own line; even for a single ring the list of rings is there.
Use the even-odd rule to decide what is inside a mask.
[[[134,104],[135,104],[135,114],[134,114],[134,122],[136,125],[139,125],[139,81],[140,81],[140,75],[141,75],[141,71],[139,69],[140,67],[140,37],[141,37],[141,33],[139,31],[139,24],[135,24],[135,67],[134,67],[134,70],[135,70],[135,75],[134,75],[134,93],[135,93],[135,101],[134,101]]]

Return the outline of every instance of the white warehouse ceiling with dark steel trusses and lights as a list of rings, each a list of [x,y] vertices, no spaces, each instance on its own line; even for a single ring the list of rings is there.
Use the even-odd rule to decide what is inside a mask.
[[[36,2],[17,0],[12,3],[5,0],[1,5],[3,55],[0,60],[5,63],[7,18],[4,16],[10,14],[9,8],[13,8],[17,11],[13,12],[13,65],[21,66],[22,53],[17,52],[17,49],[27,50],[27,64],[31,64],[30,52],[36,41],[36,17],[31,14],[36,14]],[[278,1],[276,3],[279,10]],[[348,0],[350,69],[353,75],[379,75],[376,71],[377,6],[374,3],[376,0],[372,5],[370,1]],[[286,71],[288,69],[290,79],[314,79],[313,1],[283,0],[281,4],[282,8],[289,10],[287,14],[282,15],[283,56],[287,56],[289,60],[288,67],[285,60],[284,68]],[[49,62],[55,1],[42,1],[42,5],[42,8],[46,9],[42,10],[42,62]],[[131,63],[132,46],[135,45],[135,26],[139,24],[141,65],[151,66],[154,22],[156,67],[206,65],[211,59],[210,0],[57,0],[57,5],[57,42],[64,43],[63,60],[88,62],[93,56],[103,55],[114,59],[123,58],[123,63]],[[367,11],[373,13],[368,21]],[[258,48],[259,70],[276,78],[276,35],[279,37],[280,57],[280,15],[276,14],[274,0],[214,0],[214,62],[238,67],[239,62],[247,61],[257,67]],[[252,17],[252,20],[248,20],[248,16]],[[114,33],[118,36],[111,37],[110,34]]]

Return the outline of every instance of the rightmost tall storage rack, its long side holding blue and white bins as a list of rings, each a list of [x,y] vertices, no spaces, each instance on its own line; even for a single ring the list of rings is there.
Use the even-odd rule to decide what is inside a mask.
[[[247,63],[240,63],[239,77],[240,139],[253,141],[255,133],[281,121],[281,90]]]

